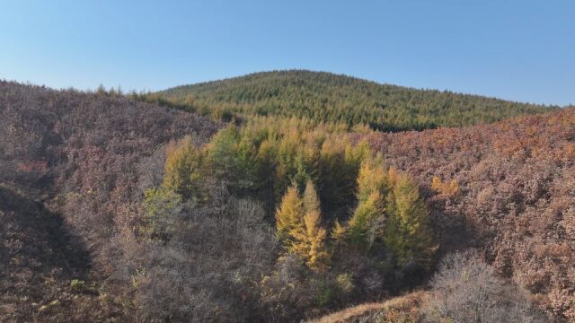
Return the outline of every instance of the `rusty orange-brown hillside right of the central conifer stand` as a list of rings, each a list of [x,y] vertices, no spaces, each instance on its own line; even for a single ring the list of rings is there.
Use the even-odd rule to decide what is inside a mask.
[[[575,109],[367,140],[427,188],[444,252],[484,249],[547,310],[575,319]]]

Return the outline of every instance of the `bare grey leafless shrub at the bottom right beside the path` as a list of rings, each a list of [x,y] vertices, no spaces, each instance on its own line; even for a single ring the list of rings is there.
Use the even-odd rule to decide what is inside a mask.
[[[428,322],[544,322],[526,293],[495,273],[474,252],[441,261],[423,306]]]

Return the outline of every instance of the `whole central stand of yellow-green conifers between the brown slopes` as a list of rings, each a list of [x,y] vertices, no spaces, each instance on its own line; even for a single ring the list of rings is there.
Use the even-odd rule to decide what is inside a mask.
[[[175,193],[202,203],[204,184],[220,180],[234,196],[266,205],[283,253],[299,256],[315,273],[329,270],[338,249],[383,252],[394,266],[429,266],[435,248],[419,187],[346,129],[261,117],[227,127],[203,146],[190,136],[171,144],[163,188],[146,194],[146,203],[159,205],[146,206],[150,223],[164,228],[155,235],[169,234],[167,222],[154,219],[170,205],[165,198]]]

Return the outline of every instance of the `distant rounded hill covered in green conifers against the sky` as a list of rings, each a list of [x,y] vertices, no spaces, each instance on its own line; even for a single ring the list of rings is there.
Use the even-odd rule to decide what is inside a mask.
[[[463,127],[557,108],[305,70],[248,74],[178,86],[157,94],[223,118],[296,116],[349,126],[365,124],[384,131]]]

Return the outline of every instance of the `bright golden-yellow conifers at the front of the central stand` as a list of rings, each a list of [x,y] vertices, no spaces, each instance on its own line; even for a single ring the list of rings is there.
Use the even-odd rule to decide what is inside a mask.
[[[349,219],[343,224],[336,220],[328,237],[314,183],[307,182],[303,196],[294,184],[276,213],[279,240],[288,252],[298,254],[319,271],[329,266],[328,238],[332,248],[384,248],[400,266],[410,261],[430,265],[437,247],[419,188],[407,175],[387,169],[381,155],[369,156],[359,169],[356,196],[357,205]]]

